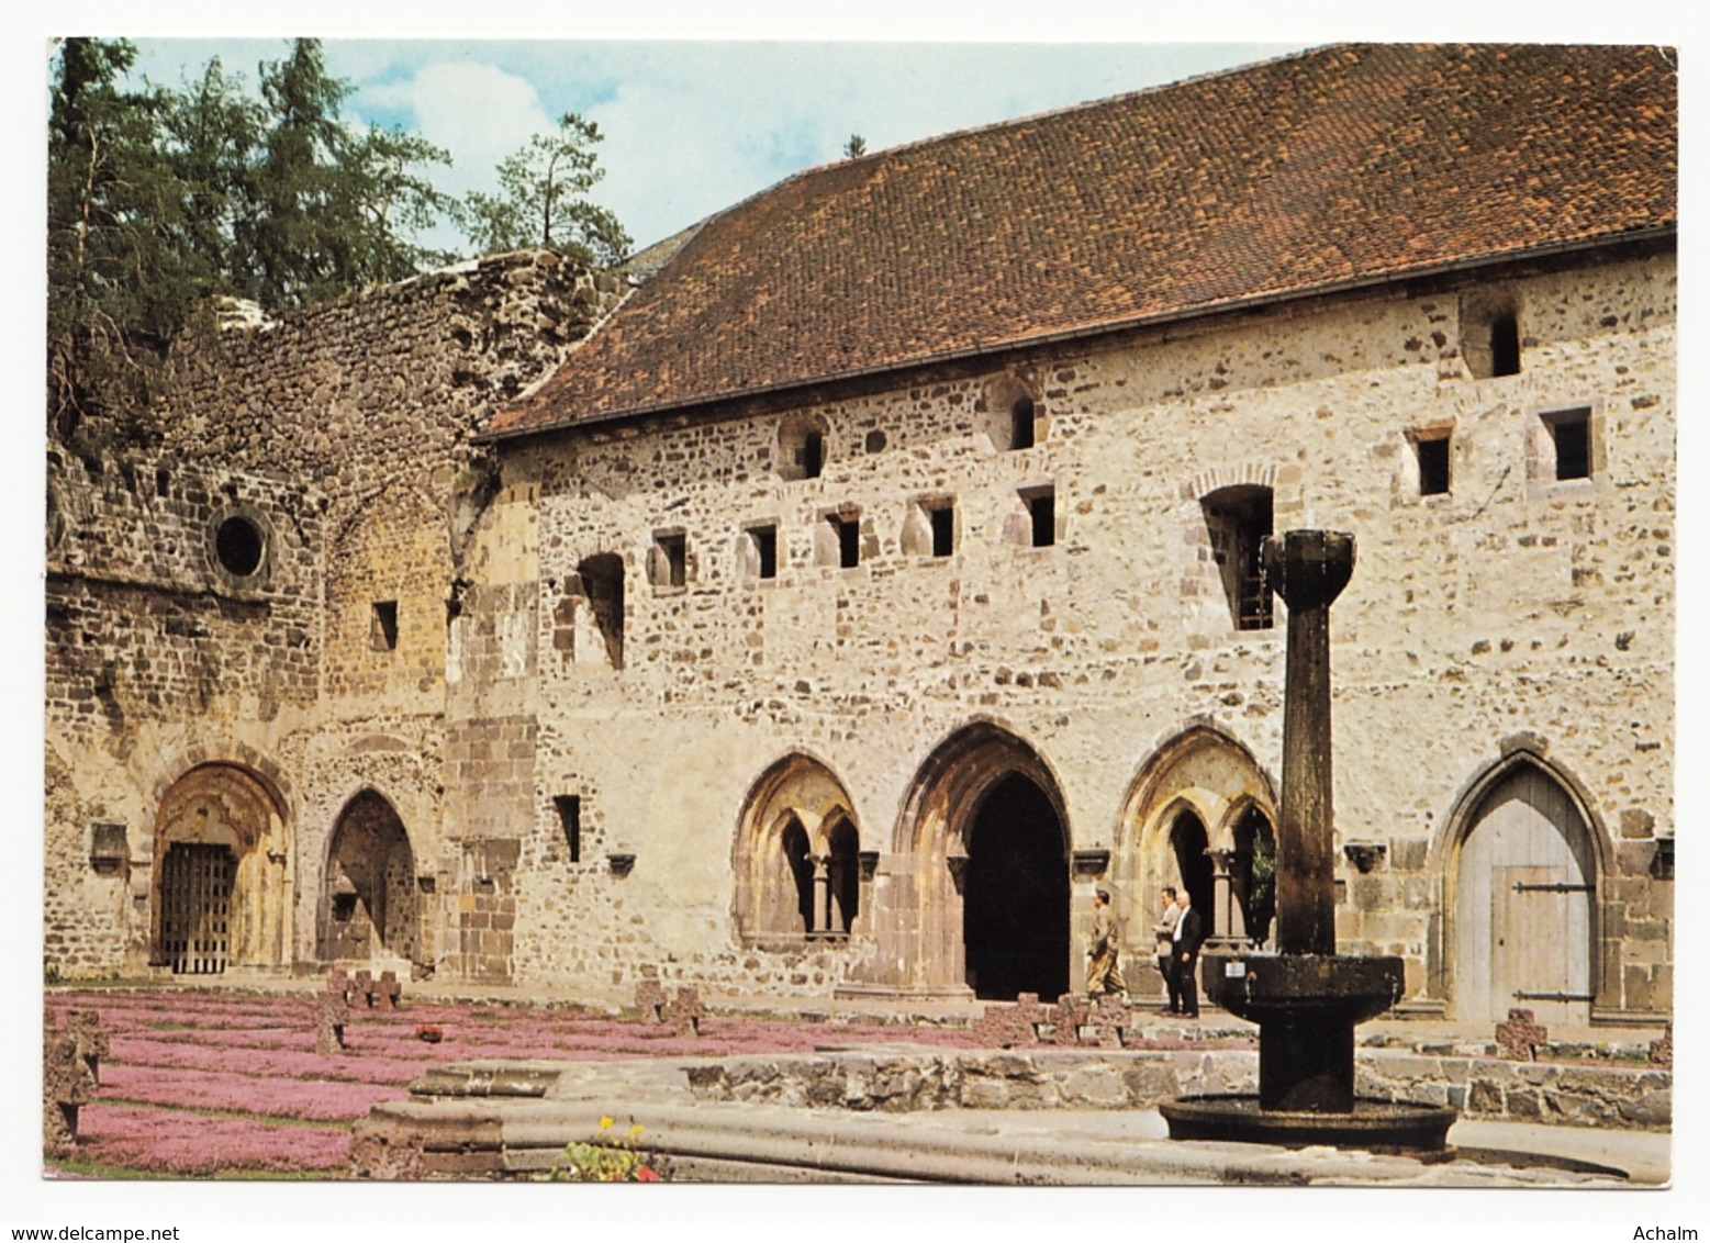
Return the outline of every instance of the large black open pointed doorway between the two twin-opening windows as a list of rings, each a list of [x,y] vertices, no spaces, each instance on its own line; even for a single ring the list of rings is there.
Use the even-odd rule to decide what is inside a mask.
[[[1069,990],[1069,848],[1050,798],[1021,773],[995,783],[966,829],[963,944],[975,997]]]

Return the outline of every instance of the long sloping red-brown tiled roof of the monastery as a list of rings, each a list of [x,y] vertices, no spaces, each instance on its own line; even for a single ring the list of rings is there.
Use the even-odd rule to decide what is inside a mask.
[[[800,173],[504,436],[1672,229],[1674,53],[1334,46]]]

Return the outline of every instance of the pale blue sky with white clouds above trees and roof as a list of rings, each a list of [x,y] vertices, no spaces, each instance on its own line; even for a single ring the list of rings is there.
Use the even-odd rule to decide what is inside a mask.
[[[137,39],[137,68],[178,85],[212,56],[255,87],[284,39]],[[593,198],[638,246],[799,169],[947,130],[1064,108],[1286,55],[1289,43],[829,43],[328,39],[356,84],[345,115],[398,125],[451,152],[441,188],[494,188],[494,166],[566,111],[595,121],[605,180]]]

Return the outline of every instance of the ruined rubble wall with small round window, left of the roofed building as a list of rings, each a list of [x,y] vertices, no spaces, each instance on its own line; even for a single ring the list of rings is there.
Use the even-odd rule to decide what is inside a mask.
[[[619,296],[614,275],[525,251],[260,327],[202,328],[174,345],[154,448],[87,463],[50,450],[56,969],[144,969],[156,809],[188,754],[265,757],[291,775],[292,910],[270,913],[289,959],[315,959],[327,850],[364,790],[410,836],[416,952],[428,966],[451,952],[460,889],[486,874],[465,886],[463,824],[443,797],[458,566],[492,487],[469,433]],[[262,547],[253,574],[221,561],[233,516]],[[245,530],[227,537],[243,566]],[[128,839],[130,857],[104,870],[91,862],[97,821]]]

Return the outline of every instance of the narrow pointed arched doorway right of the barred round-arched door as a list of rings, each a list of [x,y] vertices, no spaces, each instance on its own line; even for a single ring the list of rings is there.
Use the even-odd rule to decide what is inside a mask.
[[[416,855],[397,810],[364,790],[339,817],[321,881],[320,957],[416,957]]]

